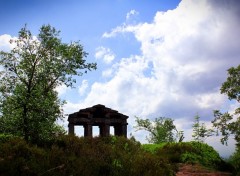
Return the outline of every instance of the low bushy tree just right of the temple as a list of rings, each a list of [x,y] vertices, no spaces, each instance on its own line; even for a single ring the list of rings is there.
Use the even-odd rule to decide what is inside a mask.
[[[137,125],[134,128],[138,130],[146,130],[150,133],[150,137],[147,140],[150,143],[163,143],[174,142],[177,139],[181,142],[183,140],[183,132],[177,131],[176,126],[173,124],[173,120],[170,118],[159,117],[154,121],[149,119],[140,119],[136,117]]]

